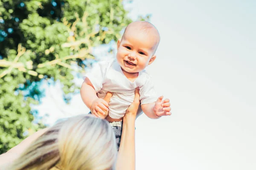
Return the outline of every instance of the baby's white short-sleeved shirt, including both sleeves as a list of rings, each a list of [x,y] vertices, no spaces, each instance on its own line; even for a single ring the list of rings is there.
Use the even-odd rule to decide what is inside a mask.
[[[140,88],[141,104],[157,101],[156,92],[150,75],[145,71],[139,72],[139,76],[131,82],[122,72],[116,59],[96,63],[83,79],[88,78],[99,98],[104,98],[108,91],[113,92],[109,102],[109,116],[119,119],[134,101],[135,88]]]

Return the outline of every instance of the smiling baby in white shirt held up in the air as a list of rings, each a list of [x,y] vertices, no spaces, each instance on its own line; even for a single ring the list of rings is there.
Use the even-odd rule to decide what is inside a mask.
[[[84,76],[81,98],[93,115],[120,122],[134,101],[135,88],[140,89],[141,109],[151,119],[171,115],[169,99],[156,97],[150,75],[144,70],[156,59],[160,42],[157,29],[149,22],[136,21],[126,28],[117,41],[116,59],[97,63]],[[103,100],[113,93],[109,103]]]

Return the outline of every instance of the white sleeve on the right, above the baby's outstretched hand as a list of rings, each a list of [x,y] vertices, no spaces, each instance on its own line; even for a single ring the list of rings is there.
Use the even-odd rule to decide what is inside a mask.
[[[147,77],[145,84],[140,87],[140,102],[141,105],[153,103],[157,101],[154,83],[151,77]]]

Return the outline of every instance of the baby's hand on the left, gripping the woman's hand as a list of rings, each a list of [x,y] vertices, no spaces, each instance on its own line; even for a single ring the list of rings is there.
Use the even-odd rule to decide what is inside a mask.
[[[112,94],[111,94],[112,95]],[[106,115],[108,114],[108,102],[106,102],[104,99],[95,99],[92,103],[91,113],[94,114],[97,117],[100,117],[100,114]]]

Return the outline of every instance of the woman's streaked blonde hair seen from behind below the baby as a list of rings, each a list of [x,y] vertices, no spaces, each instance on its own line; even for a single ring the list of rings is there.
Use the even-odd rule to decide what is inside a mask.
[[[50,127],[8,170],[108,170],[114,167],[116,156],[109,123],[80,115]]]

